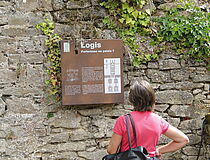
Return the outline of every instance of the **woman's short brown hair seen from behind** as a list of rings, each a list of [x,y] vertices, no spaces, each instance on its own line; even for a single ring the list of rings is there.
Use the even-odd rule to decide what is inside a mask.
[[[152,111],[155,104],[155,91],[147,81],[136,81],[130,87],[129,101],[135,111]]]

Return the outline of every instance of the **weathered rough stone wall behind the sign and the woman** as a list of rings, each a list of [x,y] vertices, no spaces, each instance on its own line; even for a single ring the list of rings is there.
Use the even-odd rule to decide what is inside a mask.
[[[157,0],[158,8],[157,4],[169,6],[171,1]],[[124,105],[64,107],[52,103],[45,91],[46,37],[35,28],[45,14],[62,37],[117,38],[104,28],[101,20],[107,13],[97,0],[0,1],[1,160],[101,159],[116,118],[132,110],[128,89],[137,78],[148,80],[155,88],[156,112],[190,138],[189,145],[165,159],[196,159],[202,117],[210,105],[210,73],[205,64],[180,60],[170,46],[158,62],[138,68],[125,56]],[[167,142],[161,137],[160,144]],[[209,158],[209,144],[205,138],[200,160]]]

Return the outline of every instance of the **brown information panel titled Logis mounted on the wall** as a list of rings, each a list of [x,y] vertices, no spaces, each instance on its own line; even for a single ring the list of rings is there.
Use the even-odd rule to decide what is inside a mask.
[[[124,102],[121,40],[63,40],[61,68],[63,105]]]

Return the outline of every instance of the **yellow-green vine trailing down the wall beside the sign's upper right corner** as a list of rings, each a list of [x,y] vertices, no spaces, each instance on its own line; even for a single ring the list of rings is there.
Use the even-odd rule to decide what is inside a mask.
[[[157,54],[145,53],[137,45],[136,34],[149,35],[151,30],[151,11],[143,6],[146,0],[105,0],[100,3],[109,11],[109,16],[103,19],[103,23],[112,30],[117,31],[124,43],[131,49],[132,63],[139,66],[151,60],[157,60]]]

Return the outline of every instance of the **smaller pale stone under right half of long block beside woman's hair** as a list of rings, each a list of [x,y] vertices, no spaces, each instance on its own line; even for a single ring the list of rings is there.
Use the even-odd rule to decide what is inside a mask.
[[[191,117],[193,108],[187,105],[172,105],[168,111],[170,116]]]

